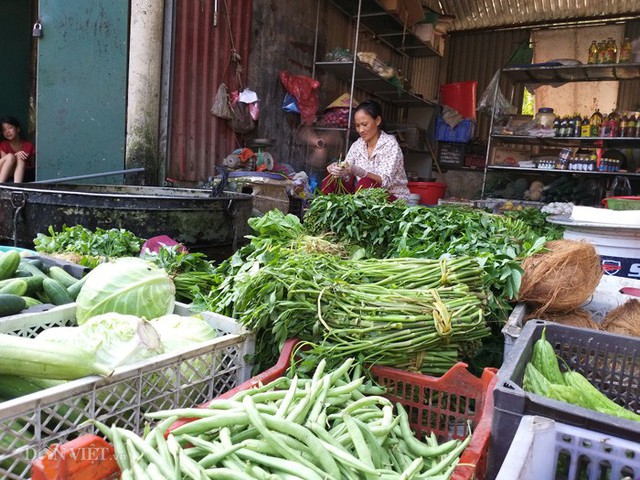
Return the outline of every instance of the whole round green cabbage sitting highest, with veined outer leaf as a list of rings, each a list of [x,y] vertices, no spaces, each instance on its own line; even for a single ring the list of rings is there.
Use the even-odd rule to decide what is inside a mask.
[[[76,320],[115,312],[146,319],[173,312],[176,290],[161,268],[136,257],[118,258],[87,274],[78,294]]]

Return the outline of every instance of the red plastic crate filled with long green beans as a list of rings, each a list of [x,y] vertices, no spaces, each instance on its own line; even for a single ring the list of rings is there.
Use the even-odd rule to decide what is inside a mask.
[[[289,340],[285,344],[278,363],[274,367],[217,397],[209,404],[201,405],[196,409],[168,410],[149,414],[149,418],[159,419],[160,422],[148,432],[148,438],[144,440],[123,429],[102,425],[101,432],[110,439],[110,442],[95,435],[84,435],[72,442],[55,446],[52,452],[36,460],[33,478],[35,480],[54,478],[106,480],[119,475],[120,465],[123,465],[123,477],[125,470],[129,475],[130,468],[133,468],[134,472],[147,471],[150,475],[151,472],[157,474],[166,471],[167,475],[173,474],[173,478],[181,478],[177,470],[184,466],[185,472],[192,468],[196,470],[209,468],[208,475],[223,475],[224,472],[224,475],[228,475],[224,478],[263,478],[260,475],[255,477],[253,473],[260,472],[261,475],[268,475],[269,470],[272,472],[295,471],[296,478],[405,478],[399,473],[393,473],[390,467],[385,468],[380,465],[386,465],[384,462],[389,461],[396,467],[400,467],[400,470],[395,471],[417,473],[418,466],[422,465],[423,461],[426,462],[428,460],[426,457],[430,455],[434,456],[432,465],[435,466],[428,467],[434,472],[429,475],[435,475],[437,471],[443,475],[443,478],[448,478],[449,475],[457,480],[484,478],[489,425],[493,411],[492,391],[497,380],[495,369],[487,368],[482,377],[477,378],[466,370],[465,364],[458,363],[445,375],[436,378],[390,367],[374,366],[371,368],[373,380],[386,389],[385,393],[381,393],[380,387],[375,384],[365,387],[362,383],[357,383],[358,380],[362,382],[363,378],[359,377],[358,373],[348,373],[349,361],[336,370],[327,372],[324,372],[321,367],[323,362],[320,362],[313,378],[306,380],[309,383],[304,383],[306,386],[304,391],[310,387],[308,394],[303,394],[298,389],[305,380],[297,376],[286,377],[295,344],[295,340]],[[357,367],[355,371],[358,371]],[[346,395],[351,398],[350,403],[346,404],[344,410],[339,410],[338,405],[342,404],[345,392],[351,391],[347,388],[354,383],[364,387],[364,391],[355,397],[351,397],[351,394]],[[334,392],[333,388],[340,393]],[[280,400],[275,403],[271,400],[262,403],[265,401],[262,400],[263,398]],[[323,398],[326,401],[322,400]],[[392,417],[388,417],[387,413],[391,413],[391,405],[394,403],[398,409],[398,417],[396,420],[391,420]],[[374,404],[385,405],[383,410],[386,413],[377,412],[377,414],[383,416],[386,423],[380,417],[381,423],[375,421],[372,423],[378,426],[367,427],[364,423],[371,420],[365,420],[365,417],[376,415],[375,412],[371,412]],[[243,410],[236,410],[238,405],[242,405]],[[324,410],[327,405],[333,406],[328,416]],[[275,411],[276,408],[279,413]],[[176,415],[180,415],[181,412],[186,418],[176,422]],[[277,420],[279,416],[282,416],[281,421]],[[325,425],[325,422],[330,424],[336,419],[338,420],[335,424],[336,429],[331,429],[331,433],[329,426],[326,430],[320,427]],[[213,423],[211,423],[212,420]],[[247,427],[247,421],[254,427]],[[215,429],[214,423],[217,425],[220,422],[228,427],[220,424],[219,440],[213,440],[215,438],[213,430],[210,433],[204,433],[204,437],[196,436],[198,434],[195,432],[202,429],[200,424],[211,424]],[[467,436],[469,425],[473,426],[471,438]],[[223,433],[223,430],[229,429],[232,430]],[[417,437],[424,436],[429,445],[414,438],[410,429],[413,429]],[[303,430],[307,432],[304,435],[301,433]],[[342,433],[339,434],[338,430]],[[183,431],[184,434],[181,433]],[[190,434],[187,434],[187,431]],[[121,433],[116,435],[113,432]],[[167,435],[167,432],[170,434]],[[254,438],[258,432],[263,440]],[[309,438],[310,432],[313,432],[312,436],[315,436],[315,439]],[[397,432],[400,432],[402,437],[395,437]],[[182,439],[176,440],[176,437],[181,435]],[[371,435],[379,436],[378,440]],[[386,445],[391,435],[394,435],[394,442],[399,442],[399,444],[392,443],[396,445],[396,450],[403,450],[406,447],[408,451],[386,453],[381,451],[385,447],[378,442]],[[237,436],[242,437],[243,440],[237,438],[241,444],[230,446],[229,441],[233,441],[232,439]],[[152,438],[155,440],[151,440]],[[275,441],[277,438],[281,441]],[[185,450],[179,446],[184,441],[190,445],[185,448],[193,450],[192,454],[186,454]],[[264,441],[266,441],[265,446],[255,450],[258,448],[257,445],[262,445],[261,442]],[[122,450],[122,442],[127,445],[126,452]],[[303,442],[308,448],[303,448],[297,456],[294,455],[295,458],[287,460],[287,449],[293,448],[296,443],[302,447],[303,445],[299,442]],[[434,442],[439,445],[435,446]],[[225,453],[206,455],[202,462],[209,467],[198,467],[195,464],[196,460],[191,456],[197,456],[196,450],[202,448],[206,449],[202,452],[206,454],[209,452],[208,448],[214,448],[215,445],[223,447]],[[457,445],[455,451],[451,450],[452,445]],[[146,453],[137,456],[138,454],[135,454],[132,448],[138,447],[143,450],[137,451],[146,451]],[[157,451],[162,453],[154,453],[149,451],[149,448],[151,450],[157,448]],[[318,448],[320,450],[317,450]],[[355,451],[349,453],[347,448],[353,448]],[[307,455],[304,454],[305,450],[315,453]],[[92,458],[92,452],[95,451],[103,452],[104,455],[99,459],[94,456],[94,460],[89,460]],[[117,454],[117,462],[116,451],[120,452]],[[276,452],[285,452],[284,457],[277,456]],[[256,463],[243,461],[244,467],[238,464],[234,468],[241,470],[244,468],[245,471],[235,470],[236,473],[231,475],[232,467],[229,462],[234,460],[227,458],[226,455],[254,459]],[[460,458],[456,464],[453,459],[457,459],[458,456]],[[125,457],[129,460],[125,460]],[[395,457],[395,460],[392,461],[391,457]],[[383,461],[383,458],[387,460]],[[158,463],[155,460],[158,460]],[[165,464],[165,461],[169,463]],[[217,462],[222,462],[224,467],[213,468]],[[331,474],[330,472],[334,470],[335,472]],[[341,473],[338,473],[338,470]],[[371,473],[374,470],[376,473]],[[192,473],[195,473],[195,470],[192,470]]]

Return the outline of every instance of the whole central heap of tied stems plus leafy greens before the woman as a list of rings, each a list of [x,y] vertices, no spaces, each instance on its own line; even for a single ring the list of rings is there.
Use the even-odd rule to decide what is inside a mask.
[[[254,330],[256,371],[292,337],[319,357],[429,374],[458,359],[482,358],[474,371],[499,365],[500,319],[517,296],[521,261],[546,242],[542,222],[407,207],[383,194],[318,197],[304,223],[279,211],[250,219],[251,242],[216,267],[218,283],[194,304]]]

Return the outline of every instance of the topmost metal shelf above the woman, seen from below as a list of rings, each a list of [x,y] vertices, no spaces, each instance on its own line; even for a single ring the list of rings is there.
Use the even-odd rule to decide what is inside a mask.
[[[358,16],[359,0],[332,0],[332,3],[354,20]],[[377,0],[362,0],[360,25],[375,38],[408,57],[441,56],[437,50],[407,30],[402,21],[384,9]]]

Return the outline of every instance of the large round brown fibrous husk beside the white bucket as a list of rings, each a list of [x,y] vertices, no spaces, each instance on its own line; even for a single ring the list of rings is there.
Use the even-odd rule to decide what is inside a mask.
[[[593,294],[602,277],[600,256],[588,242],[553,240],[547,251],[527,257],[518,299],[538,312],[575,310]]]

